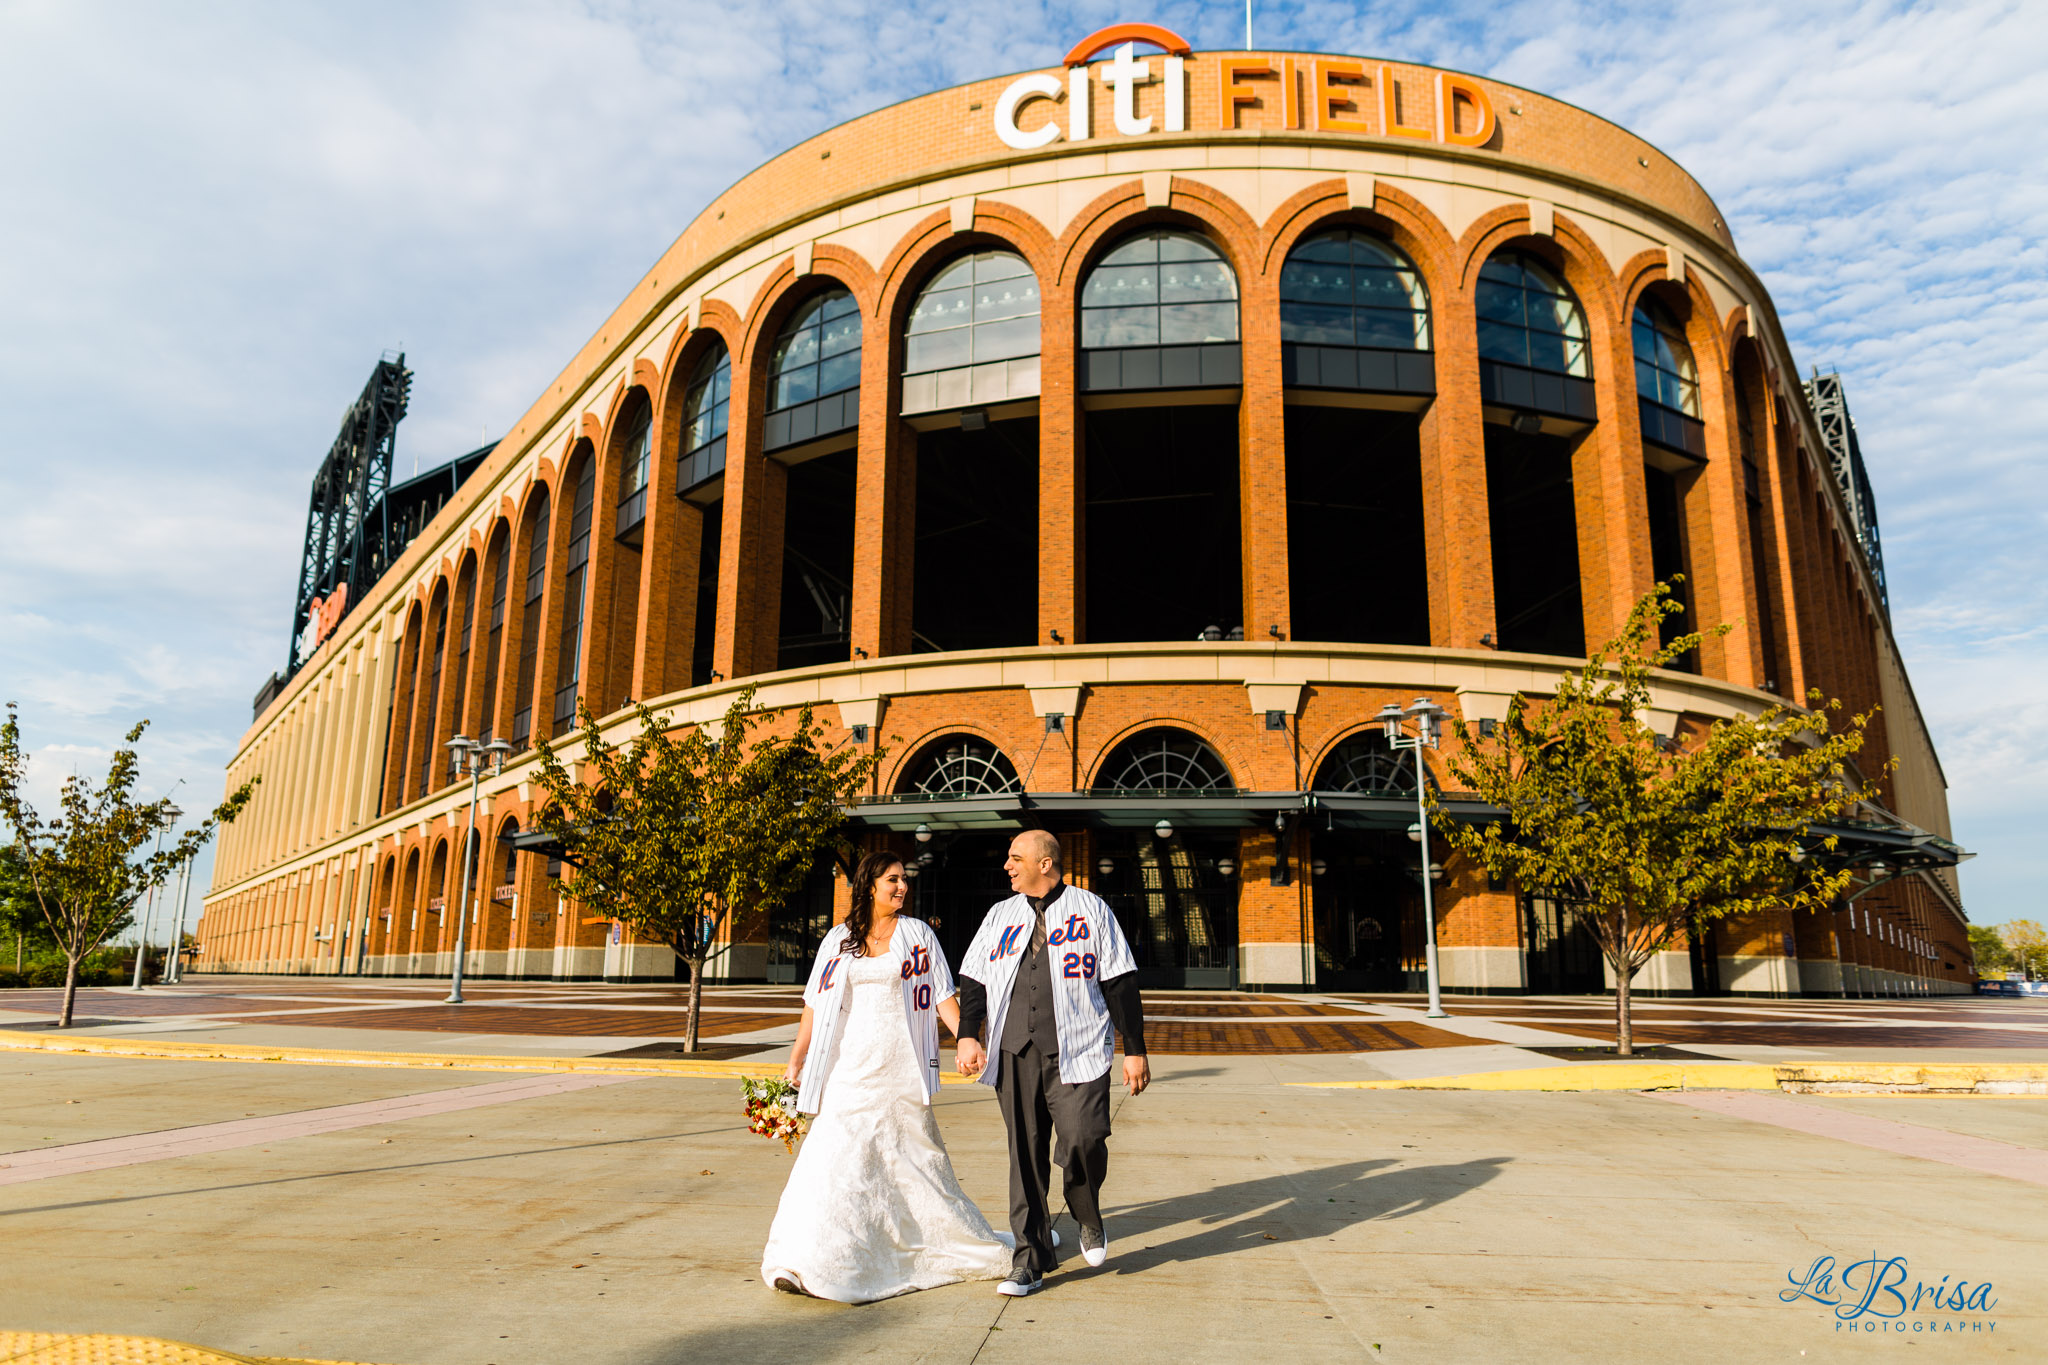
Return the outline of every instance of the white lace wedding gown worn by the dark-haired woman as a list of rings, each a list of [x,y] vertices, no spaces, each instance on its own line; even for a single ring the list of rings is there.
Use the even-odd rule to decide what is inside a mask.
[[[852,1001],[811,1134],[782,1187],[762,1283],[866,1304],[1010,1273],[924,1103],[895,954],[848,962]]]

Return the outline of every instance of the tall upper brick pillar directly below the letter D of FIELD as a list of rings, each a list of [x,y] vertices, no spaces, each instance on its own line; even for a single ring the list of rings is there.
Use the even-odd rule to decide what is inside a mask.
[[[1421,518],[1430,569],[1430,643],[1481,649],[1493,634],[1493,514],[1487,501],[1487,430],[1479,413],[1479,334],[1473,299],[1440,284],[1436,401],[1423,413]]]

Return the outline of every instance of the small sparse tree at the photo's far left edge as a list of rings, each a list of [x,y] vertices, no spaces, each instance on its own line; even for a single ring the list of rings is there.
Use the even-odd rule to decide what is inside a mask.
[[[61,1029],[72,1027],[78,964],[127,925],[143,892],[162,886],[180,862],[205,847],[213,831],[233,821],[256,790],[256,780],[244,782],[176,843],[145,853],[176,823],[168,796],[135,800],[135,780],[141,774],[135,743],[147,726],[143,720],[131,729],[125,747],[115,749],[106,782],[94,786],[76,774],[66,778],[57,794],[63,814],[43,821],[23,790],[29,755],[20,747],[14,702],[8,702],[6,724],[0,724],[0,817],[12,829],[29,894],[63,954]]]

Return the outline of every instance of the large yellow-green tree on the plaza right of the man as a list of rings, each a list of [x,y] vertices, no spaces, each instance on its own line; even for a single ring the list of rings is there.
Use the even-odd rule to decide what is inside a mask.
[[[1651,669],[1704,639],[1657,645],[1663,618],[1679,610],[1657,583],[1616,639],[1559,679],[1556,696],[1536,704],[1518,694],[1497,743],[1458,726],[1448,772],[1505,819],[1452,821],[1430,794],[1432,825],[1491,876],[1589,909],[1614,972],[1618,1056],[1634,1050],[1634,974],[1681,931],[1726,915],[1821,909],[1843,892],[1847,872],[1819,870],[1817,860],[1802,868],[1794,853],[1812,825],[1872,794],[1849,767],[1870,714],[1835,729],[1841,702],[1823,704],[1819,692],[1810,710],[1772,706],[1686,741],[1659,737],[1645,722]]]

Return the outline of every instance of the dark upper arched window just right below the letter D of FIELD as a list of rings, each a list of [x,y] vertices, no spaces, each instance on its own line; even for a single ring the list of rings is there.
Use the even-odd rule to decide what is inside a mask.
[[[1503,407],[1593,420],[1585,311],[1534,256],[1497,252],[1479,268],[1479,397]]]

